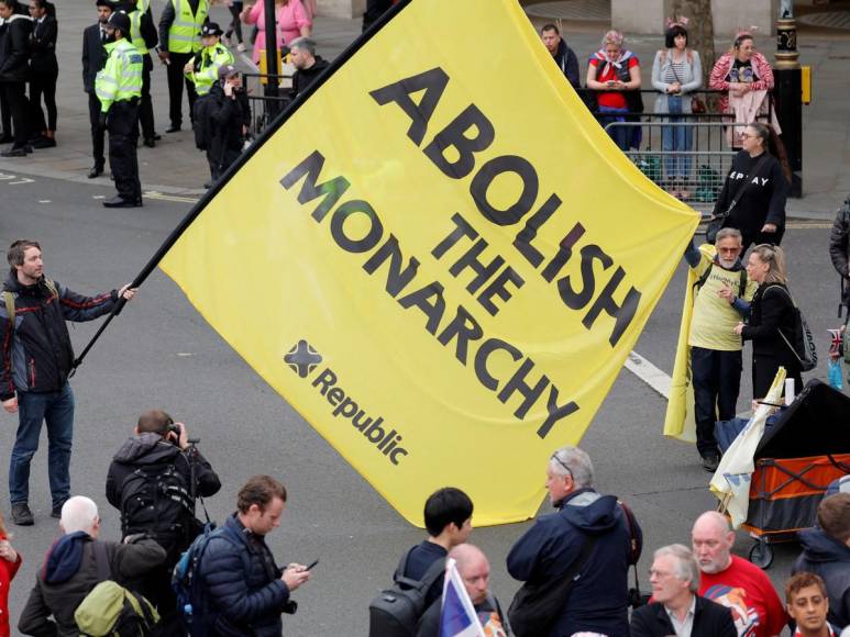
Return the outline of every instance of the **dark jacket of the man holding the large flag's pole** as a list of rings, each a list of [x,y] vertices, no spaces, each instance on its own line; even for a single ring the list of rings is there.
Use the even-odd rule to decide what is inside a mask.
[[[0,299],[0,400],[15,391],[59,391],[70,373],[74,350],[66,321],[92,321],[112,311],[118,292],[82,297],[54,281],[56,293],[44,283],[22,286],[9,277],[4,289],[14,295],[14,332]]]

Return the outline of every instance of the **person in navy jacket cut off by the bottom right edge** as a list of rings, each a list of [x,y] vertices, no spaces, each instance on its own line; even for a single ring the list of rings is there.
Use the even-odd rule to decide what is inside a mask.
[[[829,622],[850,626],[850,493],[825,498],[817,519],[820,528],[797,534],[803,552],[791,572],[820,575],[829,596]]]

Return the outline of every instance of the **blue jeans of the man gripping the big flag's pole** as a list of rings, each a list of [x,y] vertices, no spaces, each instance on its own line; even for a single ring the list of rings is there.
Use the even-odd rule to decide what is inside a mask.
[[[38,450],[42,422],[47,423],[47,477],[53,506],[70,496],[70,444],[74,437],[74,392],[18,392],[18,436],[9,463],[12,504],[30,499],[30,461]]]

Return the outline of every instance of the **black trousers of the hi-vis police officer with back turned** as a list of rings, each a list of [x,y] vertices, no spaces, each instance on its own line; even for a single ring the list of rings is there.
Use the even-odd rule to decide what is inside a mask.
[[[126,201],[142,199],[139,182],[139,160],[135,145],[139,139],[139,100],[114,102],[107,120],[109,131],[109,168],[115,178],[119,197]]]

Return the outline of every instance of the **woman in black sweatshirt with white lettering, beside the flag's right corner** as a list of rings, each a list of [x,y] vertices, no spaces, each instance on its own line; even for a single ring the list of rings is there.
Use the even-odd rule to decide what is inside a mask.
[[[728,214],[724,227],[741,231],[744,250],[753,243],[780,245],[785,233],[788,182],[779,159],[768,150],[769,142],[764,124],[744,128],[743,149],[732,159],[713,212]]]

